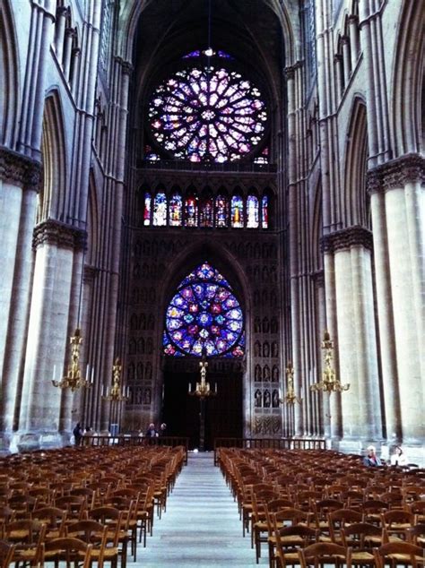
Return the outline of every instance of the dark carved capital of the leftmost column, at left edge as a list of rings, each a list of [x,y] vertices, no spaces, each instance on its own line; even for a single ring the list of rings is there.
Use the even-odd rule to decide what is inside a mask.
[[[0,146],[0,178],[22,189],[39,191],[41,164],[4,146]]]

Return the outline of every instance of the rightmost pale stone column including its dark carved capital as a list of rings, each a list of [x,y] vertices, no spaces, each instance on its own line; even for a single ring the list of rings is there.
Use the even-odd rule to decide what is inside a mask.
[[[424,212],[421,205],[424,165],[425,160],[421,156],[412,154],[375,168],[369,174],[372,196],[376,193],[383,194],[388,251],[388,264],[383,268],[386,269],[391,289],[390,309],[394,320],[392,331],[395,338],[403,443],[412,445],[423,443],[425,438],[425,247]],[[382,301],[381,298],[378,299]]]

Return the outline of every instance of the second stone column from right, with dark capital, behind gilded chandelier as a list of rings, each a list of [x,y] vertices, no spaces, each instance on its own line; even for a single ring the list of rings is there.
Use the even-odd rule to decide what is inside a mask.
[[[346,228],[325,237],[324,246],[334,253],[335,259],[338,335],[332,339],[337,340],[337,379],[351,384],[350,390],[342,394],[341,445],[358,451],[359,441],[367,443],[382,437],[370,256],[372,236],[365,228]]]

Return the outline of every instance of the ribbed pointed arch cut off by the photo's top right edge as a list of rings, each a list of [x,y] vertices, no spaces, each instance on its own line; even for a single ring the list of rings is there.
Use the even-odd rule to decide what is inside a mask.
[[[423,151],[423,74],[425,42],[423,4],[404,0],[393,60],[391,109],[394,158]]]

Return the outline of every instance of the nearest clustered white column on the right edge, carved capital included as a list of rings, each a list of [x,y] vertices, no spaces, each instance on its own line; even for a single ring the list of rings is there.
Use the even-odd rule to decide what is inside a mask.
[[[412,445],[425,437],[424,173],[418,154],[369,170],[387,436]]]

